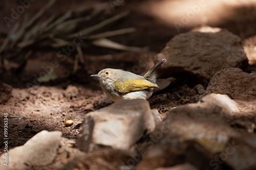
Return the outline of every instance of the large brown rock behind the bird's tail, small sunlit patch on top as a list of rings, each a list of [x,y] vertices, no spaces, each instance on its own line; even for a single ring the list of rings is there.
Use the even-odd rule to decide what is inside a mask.
[[[166,44],[157,55],[158,61],[167,59],[156,70],[159,77],[188,79],[194,86],[209,81],[224,68],[247,68],[248,59],[238,36],[216,28],[198,31],[179,34]]]

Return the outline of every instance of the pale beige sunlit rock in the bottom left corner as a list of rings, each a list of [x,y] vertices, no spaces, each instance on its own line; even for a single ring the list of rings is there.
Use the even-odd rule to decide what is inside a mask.
[[[29,139],[24,145],[8,151],[8,169],[31,169],[31,166],[50,164],[56,154],[61,141],[61,132],[41,131]],[[5,153],[1,155],[4,159]],[[0,169],[5,169],[0,164]]]

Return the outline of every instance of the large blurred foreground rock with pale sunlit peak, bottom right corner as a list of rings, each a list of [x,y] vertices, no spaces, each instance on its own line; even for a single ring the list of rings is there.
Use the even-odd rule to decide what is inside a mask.
[[[136,170],[172,169],[186,162],[198,169],[255,169],[256,135],[230,127],[232,118],[241,116],[240,107],[225,94],[211,93],[171,110],[139,147],[144,152]]]

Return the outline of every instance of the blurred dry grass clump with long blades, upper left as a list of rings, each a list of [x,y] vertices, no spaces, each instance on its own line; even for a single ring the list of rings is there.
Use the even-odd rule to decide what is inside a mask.
[[[106,39],[106,37],[135,31],[135,28],[104,31],[107,25],[123,18],[129,14],[129,11],[102,20],[102,15],[109,7],[108,3],[104,3],[68,10],[65,14],[54,14],[42,20],[42,16],[55,2],[56,0],[50,1],[31,18],[25,15],[21,24],[16,23],[14,25],[0,47],[1,64],[6,61],[22,63],[29,58],[32,49],[67,47],[74,43],[75,38],[81,36],[83,39],[86,37],[86,43],[75,45],[80,56],[82,55],[80,46],[86,46],[88,43],[119,50],[140,50],[137,47],[125,46]]]

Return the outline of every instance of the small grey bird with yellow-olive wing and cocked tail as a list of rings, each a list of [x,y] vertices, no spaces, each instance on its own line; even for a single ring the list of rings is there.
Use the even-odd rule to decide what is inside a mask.
[[[144,76],[136,75],[121,69],[105,68],[97,75],[91,77],[99,78],[102,90],[113,102],[132,99],[148,99],[153,93],[156,84],[156,75],[153,72],[163,64],[166,59],[162,59]]]

